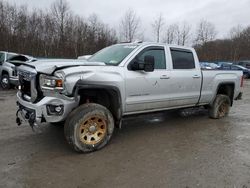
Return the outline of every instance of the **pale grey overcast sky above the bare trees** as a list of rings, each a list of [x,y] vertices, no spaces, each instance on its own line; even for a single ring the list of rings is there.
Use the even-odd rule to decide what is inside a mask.
[[[53,0],[6,0],[29,8],[49,9]],[[117,27],[119,20],[129,8],[141,18],[145,38],[152,40],[151,23],[160,13],[166,24],[182,23],[194,29],[201,19],[212,22],[217,38],[226,37],[230,28],[250,25],[250,0],[68,0],[75,14],[88,17],[96,13],[111,27]]]

